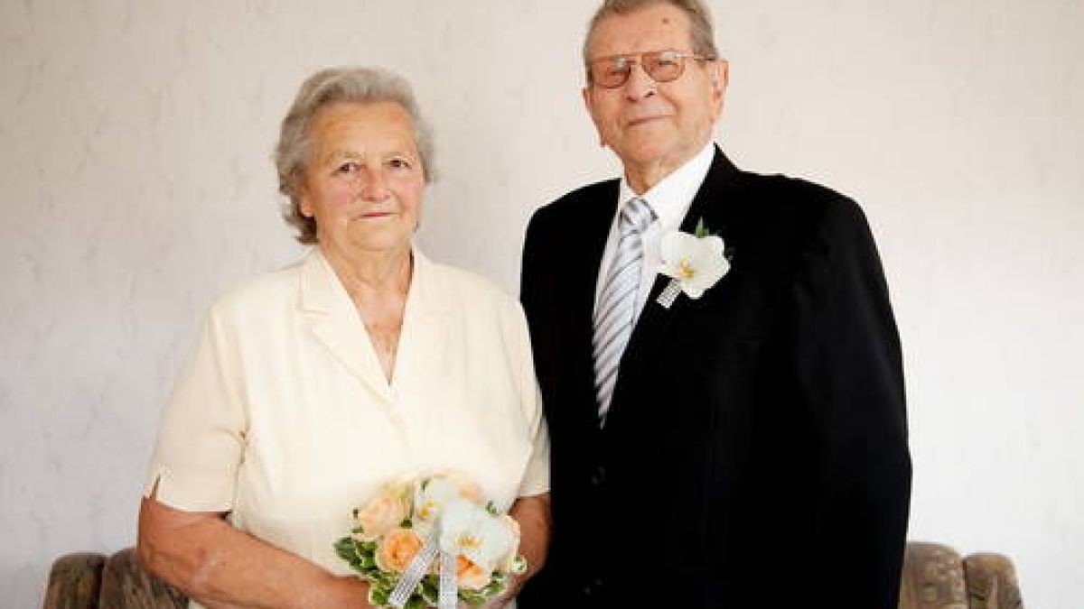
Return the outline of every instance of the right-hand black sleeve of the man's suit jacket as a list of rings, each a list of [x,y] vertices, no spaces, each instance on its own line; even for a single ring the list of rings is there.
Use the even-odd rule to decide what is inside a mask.
[[[829,200],[793,285],[795,370],[813,422],[813,539],[840,607],[896,607],[911,498],[899,334],[862,210]],[[825,574],[830,581],[838,574]]]

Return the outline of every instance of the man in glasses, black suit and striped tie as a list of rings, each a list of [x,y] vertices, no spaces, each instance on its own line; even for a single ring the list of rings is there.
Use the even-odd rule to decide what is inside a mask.
[[[862,211],[713,144],[701,2],[608,0],[583,54],[624,174],[527,230],[554,537],[521,607],[894,608],[911,459]]]

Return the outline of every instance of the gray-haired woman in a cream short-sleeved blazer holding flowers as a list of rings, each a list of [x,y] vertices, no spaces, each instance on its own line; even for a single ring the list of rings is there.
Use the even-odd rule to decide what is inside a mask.
[[[194,601],[369,607],[333,548],[351,508],[444,469],[511,508],[517,583],[541,566],[549,441],[527,326],[516,300],[412,243],[430,161],[386,72],[320,72],[283,120],[285,216],[315,247],[211,307],[140,509],[144,565]]]

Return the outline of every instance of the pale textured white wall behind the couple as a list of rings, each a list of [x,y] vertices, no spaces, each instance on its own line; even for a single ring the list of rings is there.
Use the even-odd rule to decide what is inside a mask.
[[[1035,607],[1084,563],[1084,2],[715,0],[739,165],[870,218],[906,351],[913,539]],[[157,413],[225,286],[298,255],[268,160],[313,69],[405,75],[443,177],[421,241],[516,289],[522,229],[616,163],[582,0],[0,2],[0,591],[134,539]],[[785,553],[786,548],[779,548]]]

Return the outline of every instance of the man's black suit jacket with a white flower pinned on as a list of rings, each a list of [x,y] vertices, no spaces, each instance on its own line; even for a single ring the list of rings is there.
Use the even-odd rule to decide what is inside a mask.
[[[731,270],[669,310],[656,280],[599,429],[591,320],[617,197],[616,180],[585,186],[527,230],[553,541],[520,606],[895,609],[911,459],[861,209],[717,148],[682,230],[702,218]]]

